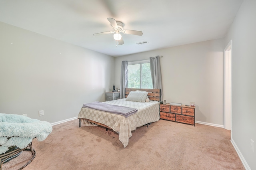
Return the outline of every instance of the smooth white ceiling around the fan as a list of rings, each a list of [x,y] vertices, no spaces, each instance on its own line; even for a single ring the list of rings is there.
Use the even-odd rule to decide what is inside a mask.
[[[0,21],[114,57],[223,38],[243,0],[0,0]],[[124,23],[117,45],[107,18]],[[137,45],[138,42],[148,43]]]

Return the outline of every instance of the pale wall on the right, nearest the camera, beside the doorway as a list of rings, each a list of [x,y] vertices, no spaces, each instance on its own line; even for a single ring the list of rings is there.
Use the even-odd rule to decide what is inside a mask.
[[[256,1],[244,0],[225,38],[232,40],[232,141],[256,169]],[[254,153],[251,141],[254,141]],[[248,168],[247,167],[247,168]],[[248,168],[249,169],[249,168]]]

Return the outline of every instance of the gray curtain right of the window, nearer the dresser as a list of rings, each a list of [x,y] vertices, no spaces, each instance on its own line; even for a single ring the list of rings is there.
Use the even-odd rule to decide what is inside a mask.
[[[150,57],[150,71],[153,83],[153,89],[161,89],[161,101],[163,99],[162,74],[160,66],[160,56]]]

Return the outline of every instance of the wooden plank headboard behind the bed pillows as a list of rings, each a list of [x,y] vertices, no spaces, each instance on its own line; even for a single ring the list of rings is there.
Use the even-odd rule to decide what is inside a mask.
[[[136,90],[141,90],[141,91],[148,92],[148,98],[150,100],[160,101],[160,99],[161,99],[161,90],[160,89],[133,89],[133,88],[125,88],[125,97],[128,96],[130,91],[136,91]]]

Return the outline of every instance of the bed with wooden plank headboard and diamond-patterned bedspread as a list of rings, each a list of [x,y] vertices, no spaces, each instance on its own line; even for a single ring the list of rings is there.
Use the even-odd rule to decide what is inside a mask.
[[[127,101],[130,99],[131,94],[136,91],[146,91],[149,102],[136,102]],[[131,92],[131,94],[130,94]],[[130,94],[130,96],[128,96]],[[126,88],[124,99],[118,99],[113,101],[106,101],[103,103],[110,105],[118,105],[122,107],[129,107],[137,109],[138,111],[133,115],[125,117],[123,115],[116,115],[111,112],[99,111],[92,108],[82,107],[79,114],[79,127],[81,122],[86,126],[103,126],[111,128],[115,132],[119,133],[119,140],[124,147],[128,145],[129,138],[132,136],[132,130],[137,127],[150,124],[152,122],[159,121],[159,101],[160,101],[160,89],[131,89]],[[128,98],[127,98],[128,97]]]

